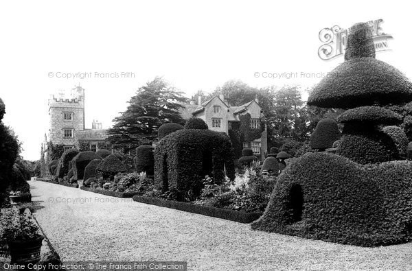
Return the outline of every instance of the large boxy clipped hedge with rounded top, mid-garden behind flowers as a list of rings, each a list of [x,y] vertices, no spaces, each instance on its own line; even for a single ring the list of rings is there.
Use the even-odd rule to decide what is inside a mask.
[[[206,174],[214,174],[217,183],[224,180],[224,168],[233,179],[231,141],[222,132],[179,130],[164,137],[155,149],[155,184],[176,191],[179,200],[184,200],[186,193],[198,196]]]

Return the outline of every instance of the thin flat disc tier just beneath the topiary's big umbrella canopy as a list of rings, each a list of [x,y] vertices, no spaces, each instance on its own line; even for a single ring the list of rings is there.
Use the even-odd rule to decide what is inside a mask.
[[[393,124],[400,123],[402,117],[387,108],[379,106],[361,106],[346,110],[339,115],[338,121],[341,123],[368,122],[373,124]]]

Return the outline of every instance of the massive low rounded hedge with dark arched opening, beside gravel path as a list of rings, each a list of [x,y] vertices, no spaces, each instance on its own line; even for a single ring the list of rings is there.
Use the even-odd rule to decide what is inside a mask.
[[[255,230],[357,246],[412,241],[412,162],[308,153],[279,176]]]

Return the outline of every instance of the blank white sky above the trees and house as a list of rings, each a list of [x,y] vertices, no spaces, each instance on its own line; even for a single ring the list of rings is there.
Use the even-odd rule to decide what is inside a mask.
[[[319,31],[376,19],[393,36],[391,50],[376,58],[411,78],[410,12],[406,1],[1,1],[3,121],[23,141],[24,158],[37,160],[49,94],[75,84],[86,90],[87,128],[93,119],[110,127],[139,86],[157,75],[188,97],[232,79],[312,86],[320,78],[301,73],[327,73],[343,62],[319,58]],[[299,76],[262,78],[265,72]]]

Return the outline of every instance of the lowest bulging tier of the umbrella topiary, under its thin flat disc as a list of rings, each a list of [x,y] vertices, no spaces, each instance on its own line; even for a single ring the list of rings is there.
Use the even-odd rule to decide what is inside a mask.
[[[372,126],[352,127],[347,123],[336,154],[360,164],[381,163],[396,159],[398,149],[391,137],[384,132],[374,130]]]

